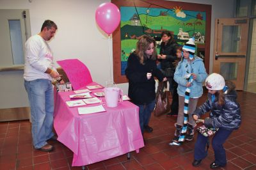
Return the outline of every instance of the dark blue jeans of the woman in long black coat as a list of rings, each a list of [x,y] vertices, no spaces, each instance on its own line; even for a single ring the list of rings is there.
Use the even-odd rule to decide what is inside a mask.
[[[138,105],[138,107],[140,107],[139,117],[140,117],[141,134],[143,134],[144,127],[148,125],[148,122],[150,120],[151,113],[154,110],[155,104],[156,104],[156,100],[152,100],[148,104],[143,104],[143,105],[136,104]]]

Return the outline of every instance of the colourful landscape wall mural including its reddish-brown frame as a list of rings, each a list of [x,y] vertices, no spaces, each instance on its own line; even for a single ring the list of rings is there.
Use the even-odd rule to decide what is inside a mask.
[[[162,31],[168,30],[180,45],[195,37],[196,55],[204,59],[209,72],[211,5],[162,0],[112,0],[120,9],[120,27],[113,33],[113,71],[116,83],[127,82],[125,68],[136,42],[142,35],[156,39],[157,50]]]

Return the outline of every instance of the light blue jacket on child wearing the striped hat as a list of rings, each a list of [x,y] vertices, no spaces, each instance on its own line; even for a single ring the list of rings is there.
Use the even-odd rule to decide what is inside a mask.
[[[178,94],[183,97],[185,96],[186,83],[188,82],[184,77],[189,73],[196,74],[196,79],[193,80],[190,87],[189,97],[201,97],[203,94],[202,84],[207,77],[207,73],[203,60],[198,56],[194,56],[194,58],[192,62],[188,62],[188,59],[180,61],[174,73],[174,80],[179,84],[177,88]]]

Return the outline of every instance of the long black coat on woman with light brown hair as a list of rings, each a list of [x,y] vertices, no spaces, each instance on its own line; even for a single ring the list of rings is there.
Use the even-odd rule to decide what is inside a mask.
[[[147,79],[147,73],[152,73],[151,79]],[[127,61],[125,75],[129,79],[128,96],[134,104],[148,104],[156,98],[156,85],[154,77],[163,81],[164,75],[156,68],[156,60],[146,59],[144,64],[133,52]]]

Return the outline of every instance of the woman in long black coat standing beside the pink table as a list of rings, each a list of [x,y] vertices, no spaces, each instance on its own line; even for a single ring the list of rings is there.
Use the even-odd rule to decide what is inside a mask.
[[[163,73],[156,68],[156,42],[154,38],[143,35],[137,42],[135,52],[127,61],[125,75],[129,79],[128,96],[132,102],[140,107],[140,128],[152,132],[148,126],[151,112],[156,103],[155,79],[166,81]]]

